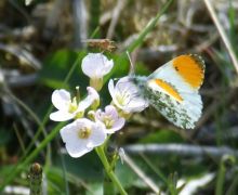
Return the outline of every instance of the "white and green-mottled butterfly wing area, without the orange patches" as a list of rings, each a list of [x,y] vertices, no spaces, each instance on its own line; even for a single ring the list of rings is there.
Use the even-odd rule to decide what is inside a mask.
[[[183,99],[182,102],[176,101],[173,96],[166,93],[164,89],[149,82],[150,79],[161,79],[171,84]],[[147,99],[150,105],[159,110],[169,121],[174,125],[185,128],[195,128],[195,122],[201,116],[202,102],[198,90],[193,89],[186,81],[180,77],[172,61],[159,67],[150,76],[148,76],[147,84]]]

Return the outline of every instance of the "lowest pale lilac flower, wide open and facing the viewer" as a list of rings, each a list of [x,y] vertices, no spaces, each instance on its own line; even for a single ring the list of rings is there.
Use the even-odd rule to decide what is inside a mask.
[[[101,122],[80,118],[61,129],[66,151],[74,157],[80,157],[106,140],[105,128]]]

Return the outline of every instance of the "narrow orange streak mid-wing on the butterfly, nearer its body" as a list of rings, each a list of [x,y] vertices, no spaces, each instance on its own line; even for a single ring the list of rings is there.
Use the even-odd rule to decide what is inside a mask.
[[[177,92],[177,90],[173,86],[171,86],[170,83],[168,83],[161,79],[154,79],[151,81],[155,82],[158,87],[162,88],[169,95],[173,96],[177,102],[183,101],[183,99],[180,95],[180,93]]]

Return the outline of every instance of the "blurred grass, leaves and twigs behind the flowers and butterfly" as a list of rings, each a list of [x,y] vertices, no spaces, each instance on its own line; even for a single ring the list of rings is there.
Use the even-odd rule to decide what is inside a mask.
[[[113,138],[127,153],[116,168],[127,192],[238,194],[237,15],[236,0],[1,0],[1,193],[28,194],[34,161],[43,167],[43,193],[103,193],[98,157],[70,158],[58,134],[63,123],[49,121],[49,113],[54,89],[85,92],[81,58],[96,51],[85,40],[108,38],[117,50],[105,52],[115,61],[106,80],[128,74],[125,50],[138,75],[182,53],[197,53],[207,65],[196,129],[177,129],[148,108]]]

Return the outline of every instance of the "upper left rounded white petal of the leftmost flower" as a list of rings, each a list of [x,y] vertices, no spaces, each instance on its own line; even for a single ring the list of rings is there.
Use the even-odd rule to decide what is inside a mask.
[[[70,93],[66,90],[55,90],[52,93],[52,103],[57,109],[67,110],[70,103]]]

